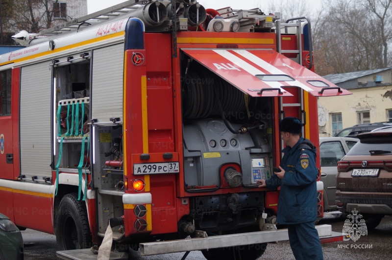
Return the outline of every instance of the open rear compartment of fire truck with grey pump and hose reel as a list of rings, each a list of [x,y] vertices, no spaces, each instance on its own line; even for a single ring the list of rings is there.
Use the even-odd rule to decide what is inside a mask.
[[[238,182],[254,187],[259,178],[269,178],[271,101],[247,96],[205,67],[186,62],[188,56],[185,57],[182,77],[185,189],[193,192],[234,188],[239,186]],[[244,128],[248,131],[242,132]],[[237,183],[228,175],[237,178]]]

